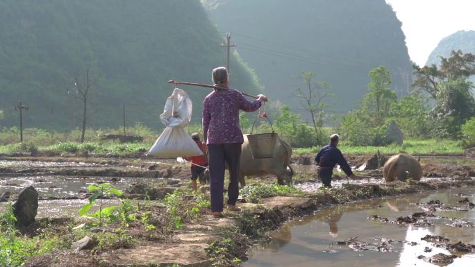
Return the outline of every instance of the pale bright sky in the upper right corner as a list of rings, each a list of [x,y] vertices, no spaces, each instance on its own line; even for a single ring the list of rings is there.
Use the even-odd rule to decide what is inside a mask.
[[[412,61],[419,66],[444,37],[475,31],[475,0],[386,0],[402,22]],[[430,27],[429,27],[430,26]]]

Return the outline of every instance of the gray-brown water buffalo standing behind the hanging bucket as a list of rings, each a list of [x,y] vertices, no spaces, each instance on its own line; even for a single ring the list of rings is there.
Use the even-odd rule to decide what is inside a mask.
[[[276,175],[278,184],[292,183],[293,171],[289,166],[291,155],[292,148],[290,145],[278,137],[276,140],[274,157],[269,159],[253,159],[251,147],[249,146],[249,141],[247,140],[247,135],[244,135],[239,175],[239,182],[241,186],[244,187],[246,184],[246,181],[244,180],[246,176],[266,174]]]

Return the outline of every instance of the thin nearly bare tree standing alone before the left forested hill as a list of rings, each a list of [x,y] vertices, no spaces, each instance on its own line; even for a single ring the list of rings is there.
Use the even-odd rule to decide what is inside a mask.
[[[74,85],[72,89],[67,88],[67,93],[72,94],[76,99],[81,101],[83,105],[83,116],[82,116],[82,132],[81,132],[81,143],[84,142],[85,128],[88,119],[88,101],[91,97],[92,89],[97,85],[101,76],[93,75],[91,70],[91,60],[89,60],[84,67],[83,72],[78,70],[74,76]]]

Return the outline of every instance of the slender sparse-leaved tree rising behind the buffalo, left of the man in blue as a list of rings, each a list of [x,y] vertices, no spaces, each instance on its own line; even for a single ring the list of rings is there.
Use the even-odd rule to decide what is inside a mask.
[[[301,98],[303,108],[310,113],[315,133],[320,135],[324,124],[324,108],[328,107],[324,100],[335,97],[335,94],[331,94],[329,83],[315,81],[315,74],[310,71],[302,72],[301,78],[305,83],[305,87],[303,89],[298,86],[295,88],[297,97]]]

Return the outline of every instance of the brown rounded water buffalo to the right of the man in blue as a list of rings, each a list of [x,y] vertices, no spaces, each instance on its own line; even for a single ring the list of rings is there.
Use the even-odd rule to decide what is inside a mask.
[[[384,164],[383,175],[386,182],[405,181],[408,178],[421,180],[422,166],[415,157],[408,154],[398,154],[390,157]]]

